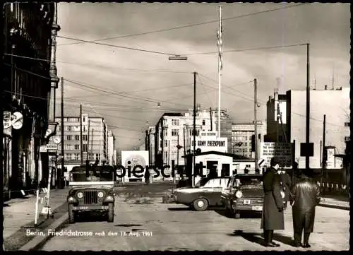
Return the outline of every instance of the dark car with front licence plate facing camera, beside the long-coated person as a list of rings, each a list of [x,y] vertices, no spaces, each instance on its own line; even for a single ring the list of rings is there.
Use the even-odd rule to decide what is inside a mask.
[[[221,203],[227,213],[240,218],[240,212],[263,211],[263,175],[235,174],[221,194]]]

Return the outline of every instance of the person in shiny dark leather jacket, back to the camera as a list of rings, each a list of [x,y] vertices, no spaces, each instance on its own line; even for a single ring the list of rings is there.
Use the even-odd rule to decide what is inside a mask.
[[[313,182],[313,171],[301,173],[299,182],[292,188],[290,201],[292,205],[294,246],[310,248],[309,236],[313,232],[315,207],[320,202],[320,187]],[[304,230],[304,242],[301,235]]]

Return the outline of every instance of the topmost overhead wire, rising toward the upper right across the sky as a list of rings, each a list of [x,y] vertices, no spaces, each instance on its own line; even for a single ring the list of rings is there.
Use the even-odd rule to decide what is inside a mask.
[[[234,18],[244,18],[244,17],[254,16],[254,15],[263,14],[263,13],[269,13],[271,11],[278,11],[278,10],[282,10],[282,9],[285,9],[285,8],[292,8],[292,7],[297,7],[297,6],[301,6],[301,5],[305,5],[305,4],[309,4],[309,3],[294,4],[292,6],[282,6],[280,8],[273,8],[273,9],[270,9],[270,10],[267,10],[267,11],[257,11],[257,12],[254,12],[254,13],[247,13],[247,14],[244,14],[244,15],[233,16],[233,17],[230,17],[230,18],[222,18],[222,21],[232,20]],[[133,36],[138,36],[138,35],[148,35],[148,34],[152,34],[152,33],[156,33],[156,32],[177,30],[177,29],[181,29],[181,28],[190,28],[190,27],[194,27],[194,26],[198,26],[198,25],[205,25],[205,24],[216,23],[216,22],[219,22],[219,20],[210,20],[210,21],[205,21],[205,22],[202,22],[202,23],[181,25],[181,26],[174,27],[174,28],[164,28],[164,29],[158,29],[158,30],[151,30],[151,31],[148,31],[148,32],[140,32],[140,33],[136,33],[136,34],[132,34],[132,35],[120,35],[120,36],[116,36],[116,37],[107,37],[107,38],[103,38],[103,39],[99,39],[99,40],[91,40],[89,42],[99,42],[99,41],[104,41],[104,40],[113,40],[113,39],[120,39],[120,38],[126,38],[126,37],[133,37]],[[77,44],[81,44],[81,43],[84,43],[84,42],[71,42],[71,43],[68,43],[68,44],[62,44],[62,45],[57,45],[57,46],[77,45]]]

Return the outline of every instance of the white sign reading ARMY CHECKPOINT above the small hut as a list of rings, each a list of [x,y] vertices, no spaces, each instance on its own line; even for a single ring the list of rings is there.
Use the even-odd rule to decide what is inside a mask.
[[[190,139],[191,148],[193,148],[193,138]],[[201,152],[205,151],[218,151],[220,153],[227,153],[227,137],[220,138],[196,138],[196,150],[200,149]]]

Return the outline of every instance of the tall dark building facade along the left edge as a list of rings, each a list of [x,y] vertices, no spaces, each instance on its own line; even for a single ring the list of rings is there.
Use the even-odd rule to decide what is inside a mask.
[[[23,115],[20,129],[4,130],[4,191],[46,185],[48,165],[40,146],[47,143],[50,93],[58,79],[51,68],[52,30],[59,30],[55,20],[54,3],[6,3],[4,16],[4,66],[1,69],[4,89],[2,102],[4,117],[14,112]],[[52,74],[52,75],[51,75]],[[53,85],[54,84],[54,85]],[[42,172],[41,172],[42,170]],[[16,193],[14,193],[16,194]]]

